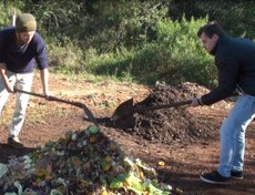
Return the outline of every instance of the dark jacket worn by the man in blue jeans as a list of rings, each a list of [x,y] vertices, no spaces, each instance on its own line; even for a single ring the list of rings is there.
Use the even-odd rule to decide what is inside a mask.
[[[255,43],[247,39],[223,35],[211,52],[218,70],[218,86],[201,98],[211,105],[238,90],[255,96]]]

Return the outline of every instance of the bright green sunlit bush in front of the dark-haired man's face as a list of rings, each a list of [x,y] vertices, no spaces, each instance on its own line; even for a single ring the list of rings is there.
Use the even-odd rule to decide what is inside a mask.
[[[137,50],[122,49],[101,55],[93,62],[91,71],[116,76],[129,72],[136,81],[149,84],[164,80],[171,84],[192,81],[212,86],[215,84],[215,74],[211,73],[214,66],[207,64],[213,62],[196,38],[198,27],[205,22],[206,19],[160,20],[154,27],[156,40]]]

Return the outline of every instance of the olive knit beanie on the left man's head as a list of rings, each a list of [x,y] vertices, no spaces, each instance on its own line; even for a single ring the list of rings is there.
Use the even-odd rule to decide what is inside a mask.
[[[16,32],[30,32],[37,30],[37,21],[30,13],[22,13],[16,19]]]

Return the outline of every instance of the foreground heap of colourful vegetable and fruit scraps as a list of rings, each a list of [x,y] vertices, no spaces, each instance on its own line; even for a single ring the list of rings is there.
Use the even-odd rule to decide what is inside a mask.
[[[0,194],[173,194],[156,172],[125,156],[95,125],[68,132],[37,152],[0,164]],[[175,193],[174,193],[175,194]]]

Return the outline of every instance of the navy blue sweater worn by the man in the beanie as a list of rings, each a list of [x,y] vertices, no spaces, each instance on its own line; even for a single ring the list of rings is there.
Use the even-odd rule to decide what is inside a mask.
[[[48,55],[43,39],[35,32],[29,44],[17,45],[14,27],[0,31],[0,62],[16,73],[33,72],[34,60],[38,68],[48,68]]]

